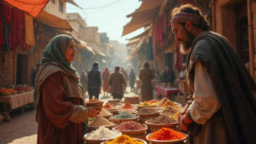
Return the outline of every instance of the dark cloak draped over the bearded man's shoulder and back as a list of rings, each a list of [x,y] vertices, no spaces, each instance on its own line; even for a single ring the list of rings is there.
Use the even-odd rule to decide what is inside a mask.
[[[256,85],[228,40],[213,32],[204,32],[193,40],[187,60],[191,85],[197,61],[206,67],[221,104],[220,111],[208,120],[213,123],[211,129],[214,130],[218,124],[222,125],[227,131],[229,143],[256,143],[253,133],[256,129],[256,101],[252,94],[256,91]],[[193,138],[198,136],[200,131],[205,131],[205,127],[206,125],[194,123],[189,132],[189,142],[193,143]],[[202,138],[218,139],[218,131],[210,137],[209,133],[214,134],[208,131]]]

